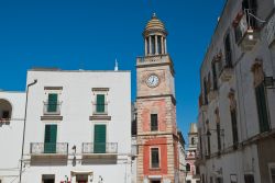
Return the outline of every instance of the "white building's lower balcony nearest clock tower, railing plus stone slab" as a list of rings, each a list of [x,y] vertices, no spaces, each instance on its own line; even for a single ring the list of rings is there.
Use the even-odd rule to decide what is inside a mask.
[[[82,157],[85,158],[100,158],[100,157],[117,157],[118,144],[117,142],[84,142]]]

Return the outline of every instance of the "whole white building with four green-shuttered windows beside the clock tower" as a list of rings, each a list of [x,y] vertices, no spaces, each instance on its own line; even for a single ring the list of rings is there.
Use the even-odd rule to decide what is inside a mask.
[[[130,72],[34,69],[34,80],[22,183],[130,183]]]

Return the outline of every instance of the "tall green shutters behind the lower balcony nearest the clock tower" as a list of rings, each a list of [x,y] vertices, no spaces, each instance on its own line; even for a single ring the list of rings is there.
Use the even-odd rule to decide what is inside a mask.
[[[106,125],[95,125],[94,152],[106,153]]]

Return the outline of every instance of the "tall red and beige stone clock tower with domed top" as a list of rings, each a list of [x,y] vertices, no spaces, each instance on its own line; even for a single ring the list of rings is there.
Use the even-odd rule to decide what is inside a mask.
[[[166,37],[153,14],[143,32],[145,54],[136,59],[138,183],[175,183],[178,178],[175,72]]]

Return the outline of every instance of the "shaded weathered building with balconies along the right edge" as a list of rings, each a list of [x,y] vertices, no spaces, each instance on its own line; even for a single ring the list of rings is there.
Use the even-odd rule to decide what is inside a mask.
[[[200,69],[202,183],[275,182],[275,2],[228,0]]]

